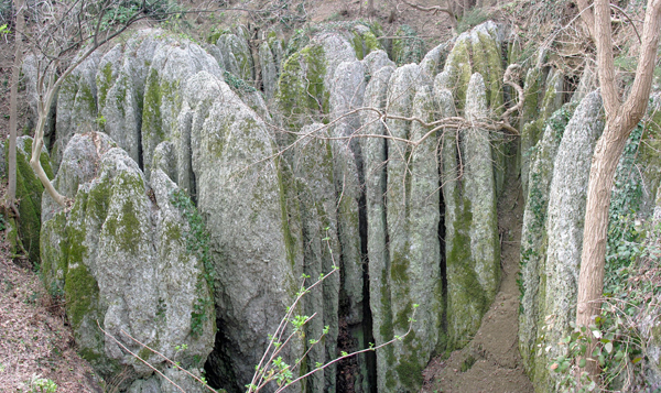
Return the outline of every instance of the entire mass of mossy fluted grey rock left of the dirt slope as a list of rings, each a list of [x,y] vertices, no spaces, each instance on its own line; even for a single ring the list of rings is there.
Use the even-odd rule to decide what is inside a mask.
[[[63,160],[54,181],[76,198],[74,208],[66,214],[50,198],[43,203],[42,255],[53,261],[47,282],[72,299],[85,356],[96,359],[102,374],[130,365],[130,391],[170,389],[99,334],[93,323],[99,319],[127,346],[136,345],[120,329],[170,350],[169,356],[186,342],[184,357],[199,357],[188,360],[191,368],[212,352],[208,378],[241,391],[301,274],[314,280],[337,265],[340,271],[304,298],[301,313],[317,315],[306,326],[306,339],[292,341],[283,356],[292,361],[305,353],[307,339],[325,326],[328,332],[310,351],[308,364],[383,343],[408,330],[419,304],[418,323],[403,341],[376,359],[373,353],[371,360],[360,358],[351,369],[357,392],[375,383],[383,392],[418,391],[431,356],[465,345],[498,288],[502,141],[473,128],[446,129],[411,144],[403,140],[419,141],[430,129],[372,110],[347,112],[373,107],[425,122],[495,118],[503,102],[501,35],[485,23],[437,46],[420,66],[397,69],[361,24],[321,30],[297,43],[292,39],[288,58],[275,35],[268,35],[258,53],[266,100],[254,88],[243,30],[223,34],[207,51],[148,32],[107,52],[85,70],[91,81],[72,79],[75,95],[65,94],[63,102],[75,108],[79,91],[94,87],[98,112],[85,116],[111,138],[74,137],[65,155],[78,159]],[[415,45],[400,47],[409,52],[398,58],[420,55],[420,61]],[[528,94],[538,79],[531,77]],[[65,120],[77,116],[58,110]],[[525,114],[528,122],[535,110]],[[271,116],[286,132],[268,125]],[[71,135],[85,131],[75,125],[65,128]],[[355,133],[377,138],[347,139]],[[540,149],[552,156],[560,140],[549,138],[554,139],[540,142],[545,143]],[[549,160],[533,164],[532,173],[551,171]],[[550,175],[544,182],[540,187],[552,188]],[[192,226],[170,199],[175,189],[189,192],[208,229],[206,271],[205,261],[185,253]],[[529,268],[532,283],[541,268]],[[116,270],[120,273],[110,274]],[[180,270],[186,274],[177,277]],[[530,295],[532,310],[538,301]],[[139,297],[150,301],[137,304]],[[542,312],[531,313],[524,317],[530,337]],[[203,334],[196,336],[199,326]],[[368,364],[372,361],[376,365]],[[173,372],[165,369],[178,379]],[[312,376],[305,390],[339,390],[337,381],[333,365]]]

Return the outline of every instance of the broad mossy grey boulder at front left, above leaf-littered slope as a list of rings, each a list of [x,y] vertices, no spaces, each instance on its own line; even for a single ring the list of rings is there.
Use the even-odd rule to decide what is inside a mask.
[[[163,368],[161,357],[129,335],[185,368],[201,368],[213,347],[215,312],[204,261],[187,244],[194,229],[172,203],[177,187],[162,171],[149,187],[138,164],[101,135],[75,135],[64,152],[69,170],[54,183],[68,192],[78,186],[72,210],[44,222],[46,282],[63,284],[80,353],[99,374],[127,365],[126,383],[151,375],[126,348]],[[79,161],[96,171],[76,171]],[[187,349],[176,353],[181,345]]]

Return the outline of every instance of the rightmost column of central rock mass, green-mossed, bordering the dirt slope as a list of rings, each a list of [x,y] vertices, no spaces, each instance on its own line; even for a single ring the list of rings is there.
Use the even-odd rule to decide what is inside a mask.
[[[436,92],[452,112],[447,90]],[[466,118],[487,116],[486,89],[479,74],[470,78]],[[447,324],[452,347],[477,331],[499,284],[500,255],[496,188],[487,130],[451,132],[443,142],[443,194],[447,266]],[[457,141],[459,139],[459,141]],[[458,146],[460,154],[454,146]]]

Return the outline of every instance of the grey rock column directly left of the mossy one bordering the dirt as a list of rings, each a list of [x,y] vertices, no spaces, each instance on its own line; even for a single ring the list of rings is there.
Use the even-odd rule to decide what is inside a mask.
[[[412,114],[431,122],[435,114],[435,102],[430,86],[419,87],[413,99]],[[429,129],[418,122],[411,125],[411,139],[419,141]],[[408,320],[413,316],[413,304],[418,304],[413,324],[414,336],[394,343],[398,358],[398,380],[407,391],[416,391],[422,380],[410,375],[411,370],[422,371],[440,345],[442,331],[442,288],[441,288],[441,244],[438,240],[440,222],[440,178],[437,160],[437,135],[432,134],[411,151],[410,156],[410,196],[408,197],[405,255],[399,260],[391,253],[391,296],[392,312],[395,317],[394,331],[402,335]],[[394,204],[401,204],[393,200]],[[391,206],[388,211],[390,214]],[[391,238],[392,239],[392,238]],[[392,242],[392,241],[391,241]],[[405,369],[408,371],[402,371]]]

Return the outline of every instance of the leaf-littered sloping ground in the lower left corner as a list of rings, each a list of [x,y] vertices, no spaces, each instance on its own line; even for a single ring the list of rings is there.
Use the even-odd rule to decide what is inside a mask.
[[[111,384],[106,390],[99,386],[89,364],[76,353],[63,305],[46,293],[31,269],[9,259],[2,239],[0,392],[31,392],[37,379],[53,381],[58,393],[112,392]]]

